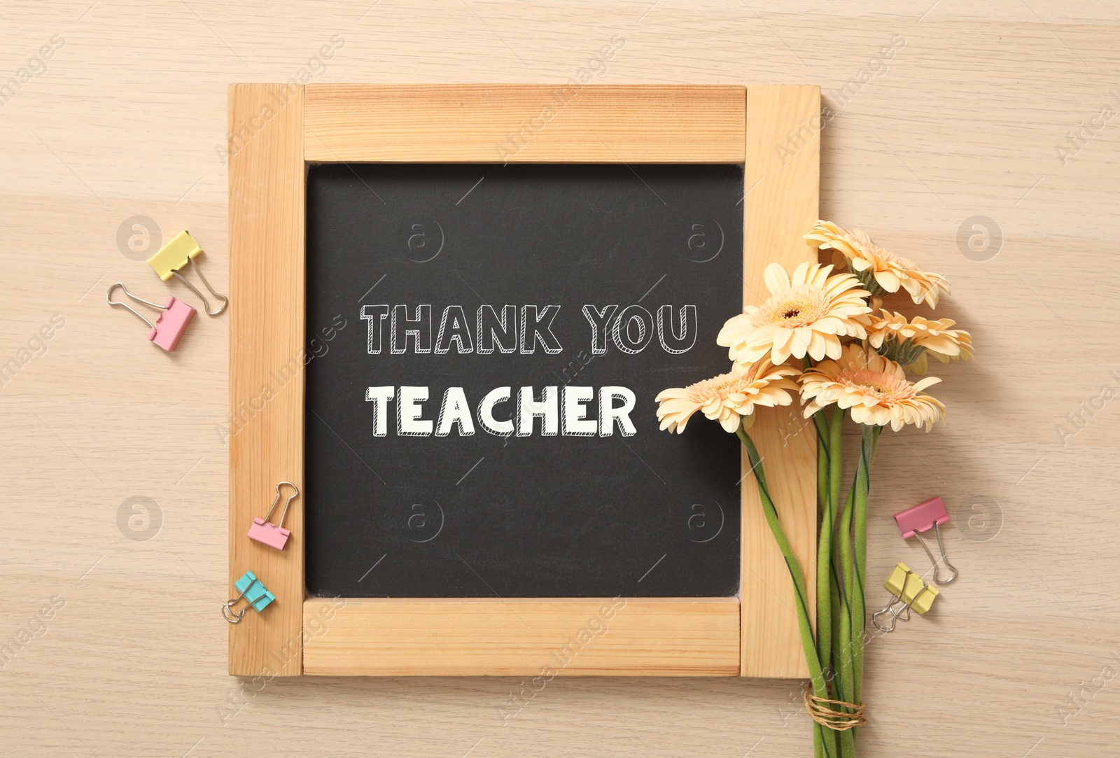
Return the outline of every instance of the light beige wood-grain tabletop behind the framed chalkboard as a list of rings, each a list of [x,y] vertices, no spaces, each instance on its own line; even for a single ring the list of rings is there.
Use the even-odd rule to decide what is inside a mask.
[[[189,228],[225,289],[226,84],[287,81],[333,35],[311,81],[562,83],[619,35],[596,81],[821,84],[822,215],[948,274],[936,312],[980,356],[941,373],[948,423],[880,444],[870,575],[927,565],[889,514],[940,494],[961,578],[870,645],[862,755],[1114,754],[1120,119],[1055,150],[1120,109],[1114,3],[78,0],[0,21],[0,82],[65,40],[0,107],[0,363],[65,319],[0,387],[0,643],[65,600],[0,668],[0,754],[810,755],[794,681],[556,680],[505,724],[516,680],[278,680],[230,705],[225,318],[166,355],[103,298],[185,292],[119,249],[138,215]],[[886,71],[830,92],[896,35]],[[970,258],[972,216],[998,232]],[[133,496],[158,532],[119,524]]]

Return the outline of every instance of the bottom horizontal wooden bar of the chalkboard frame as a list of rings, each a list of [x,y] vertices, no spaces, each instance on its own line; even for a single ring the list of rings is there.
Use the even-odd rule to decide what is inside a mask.
[[[366,676],[735,676],[735,598],[348,599],[304,671]],[[339,601],[340,602],[340,601]]]

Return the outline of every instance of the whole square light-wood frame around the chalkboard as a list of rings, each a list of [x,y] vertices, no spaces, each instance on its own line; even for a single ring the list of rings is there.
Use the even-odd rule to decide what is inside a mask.
[[[306,598],[302,500],[282,552],[245,532],[276,483],[304,478],[307,162],[743,163],[757,303],[768,263],[815,261],[819,87],[234,84],[228,114],[230,583],[251,570],[276,596],[231,625],[230,674],[808,676],[746,465],[738,598]],[[763,411],[752,434],[812,596],[810,427]]]

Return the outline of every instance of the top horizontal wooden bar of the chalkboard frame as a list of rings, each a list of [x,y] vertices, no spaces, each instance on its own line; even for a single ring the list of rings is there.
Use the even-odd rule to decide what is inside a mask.
[[[741,86],[309,84],[310,161],[741,163]]]

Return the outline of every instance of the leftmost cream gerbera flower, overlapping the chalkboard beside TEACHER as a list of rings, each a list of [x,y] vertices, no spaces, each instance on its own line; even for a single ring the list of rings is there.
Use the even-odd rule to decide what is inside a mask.
[[[687,387],[674,387],[657,394],[657,419],[661,429],[681,433],[697,411],[712,421],[719,421],[726,431],[734,432],[740,423],[754,422],[756,405],[773,408],[793,402],[790,391],[797,384],[786,378],[797,373],[792,366],[774,366],[769,361],[744,368],[736,364],[727,374],[697,382]]]

